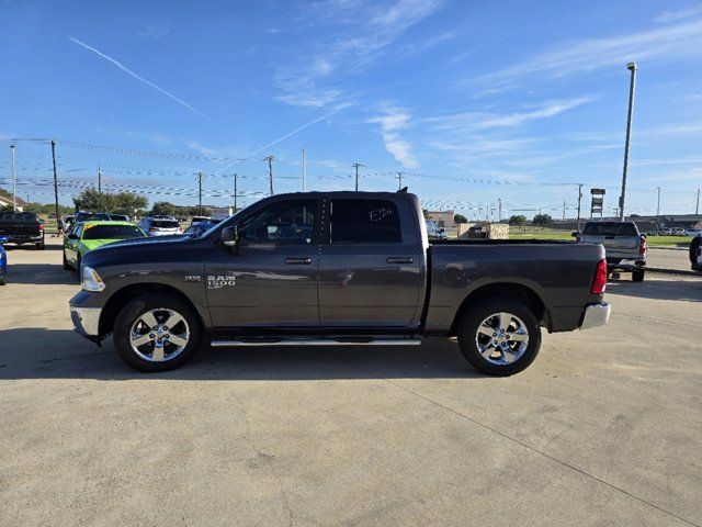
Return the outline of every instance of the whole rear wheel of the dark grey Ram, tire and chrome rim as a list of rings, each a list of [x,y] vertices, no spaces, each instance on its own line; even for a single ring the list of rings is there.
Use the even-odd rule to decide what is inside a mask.
[[[490,375],[513,375],[531,365],[541,348],[541,327],[533,312],[512,299],[486,299],[457,327],[461,352]]]

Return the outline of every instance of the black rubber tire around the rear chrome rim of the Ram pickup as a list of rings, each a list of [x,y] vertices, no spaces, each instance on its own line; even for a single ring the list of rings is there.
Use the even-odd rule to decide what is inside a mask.
[[[484,338],[487,338],[488,341],[491,340],[491,338],[485,336],[477,337],[478,328],[483,321],[497,313],[508,313],[518,317],[520,322],[523,323],[523,329],[528,334],[529,340],[525,349],[510,363],[496,363],[496,360],[499,359],[490,360],[485,358],[478,350],[477,340]],[[517,324],[510,327],[516,326]],[[456,335],[463,356],[475,369],[488,375],[507,377],[519,373],[534,361],[541,348],[541,327],[539,326],[539,321],[536,321],[536,317],[529,306],[518,300],[509,298],[486,299],[471,306],[469,311],[461,318],[456,328]],[[514,343],[514,345],[518,346],[519,343]]]

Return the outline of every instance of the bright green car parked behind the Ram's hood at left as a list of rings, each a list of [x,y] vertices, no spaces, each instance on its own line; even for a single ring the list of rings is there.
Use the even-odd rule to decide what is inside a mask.
[[[64,269],[80,270],[80,259],[89,250],[121,239],[145,238],[144,232],[129,222],[77,223],[64,236]]]

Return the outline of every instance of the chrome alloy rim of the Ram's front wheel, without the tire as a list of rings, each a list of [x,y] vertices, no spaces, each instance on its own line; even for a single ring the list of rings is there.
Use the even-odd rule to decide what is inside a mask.
[[[149,362],[163,362],[178,357],[190,340],[190,327],[183,315],[167,307],[143,313],[132,324],[132,351]]]

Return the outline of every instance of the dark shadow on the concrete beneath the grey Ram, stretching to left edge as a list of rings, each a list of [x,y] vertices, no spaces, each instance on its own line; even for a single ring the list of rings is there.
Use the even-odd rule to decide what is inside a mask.
[[[455,343],[431,338],[417,347],[229,348],[202,346],[181,368],[141,373],[68,329],[2,332],[0,380],[97,379],[299,381],[350,379],[489,379],[475,371]]]

